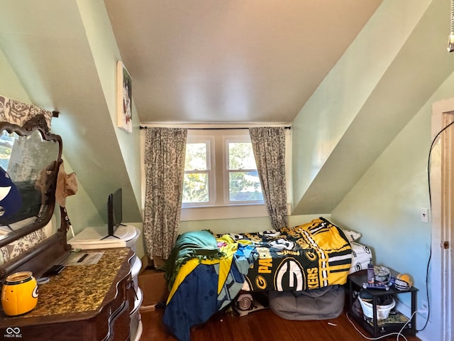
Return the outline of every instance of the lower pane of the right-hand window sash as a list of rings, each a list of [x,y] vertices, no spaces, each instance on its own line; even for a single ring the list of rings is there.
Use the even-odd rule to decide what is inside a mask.
[[[228,187],[230,201],[263,200],[258,172],[231,172]]]

